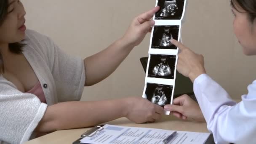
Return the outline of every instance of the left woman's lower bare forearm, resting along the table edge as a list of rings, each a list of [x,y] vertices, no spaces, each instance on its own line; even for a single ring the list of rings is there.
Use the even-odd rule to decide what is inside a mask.
[[[84,128],[127,115],[129,101],[70,101],[49,106],[36,132],[48,133],[56,130]]]

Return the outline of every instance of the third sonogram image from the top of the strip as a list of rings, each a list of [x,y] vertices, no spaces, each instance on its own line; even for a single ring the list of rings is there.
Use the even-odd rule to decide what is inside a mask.
[[[174,79],[175,55],[152,54],[149,61],[148,77]]]

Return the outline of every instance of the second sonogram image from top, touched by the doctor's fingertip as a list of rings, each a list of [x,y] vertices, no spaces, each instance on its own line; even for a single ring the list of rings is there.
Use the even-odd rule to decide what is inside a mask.
[[[171,39],[178,40],[179,26],[155,26],[151,48],[177,49]]]

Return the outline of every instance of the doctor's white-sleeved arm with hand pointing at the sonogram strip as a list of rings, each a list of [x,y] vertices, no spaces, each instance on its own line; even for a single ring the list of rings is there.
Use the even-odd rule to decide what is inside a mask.
[[[228,144],[256,141],[256,81],[248,86],[248,95],[242,96],[242,101],[237,104],[224,88],[206,75],[202,55],[176,40],[172,43],[181,50],[177,69],[194,82],[195,96],[215,142]],[[191,112],[191,109],[188,111]]]

